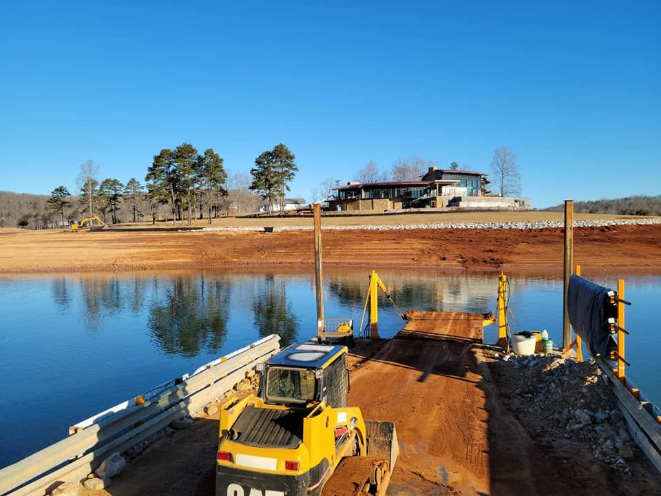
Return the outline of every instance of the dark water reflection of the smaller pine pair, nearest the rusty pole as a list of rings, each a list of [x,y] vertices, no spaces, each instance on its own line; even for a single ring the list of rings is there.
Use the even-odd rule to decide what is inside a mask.
[[[298,333],[298,319],[291,304],[287,301],[286,278],[267,274],[264,285],[255,289],[253,300],[255,327],[260,336],[269,334],[280,336],[280,346],[295,342]]]

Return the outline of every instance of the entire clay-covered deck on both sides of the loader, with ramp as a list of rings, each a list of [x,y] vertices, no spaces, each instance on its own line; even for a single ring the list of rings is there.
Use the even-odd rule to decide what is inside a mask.
[[[359,344],[350,357],[350,404],[397,426],[401,453],[388,495],[615,496],[658,488],[653,469],[623,479],[596,464],[585,446],[527,431],[490,373],[494,350],[483,345],[481,314],[407,317],[395,338]],[[165,437],[112,486],[79,495],[215,495],[217,420]]]

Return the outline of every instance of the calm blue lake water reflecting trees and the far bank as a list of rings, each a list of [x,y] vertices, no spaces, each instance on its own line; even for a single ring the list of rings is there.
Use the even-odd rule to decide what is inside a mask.
[[[379,271],[401,309],[494,309],[497,275]],[[327,272],[326,317],[358,327],[369,271]],[[593,278],[616,287],[615,277]],[[514,332],[562,336],[562,280],[511,276]],[[629,376],[661,403],[661,276],[629,276]],[[70,425],[264,335],[315,334],[309,272],[169,272],[0,278],[0,467],[67,435]],[[403,322],[380,300],[381,335]],[[494,342],[495,326],[485,342]]]

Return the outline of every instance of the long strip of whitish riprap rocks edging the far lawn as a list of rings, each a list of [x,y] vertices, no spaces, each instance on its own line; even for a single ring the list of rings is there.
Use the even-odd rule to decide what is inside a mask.
[[[618,220],[576,220],[574,227],[611,227],[622,225],[660,225],[660,218],[637,218]],[[510,223],[429,223],[429,224],[393,224],[393,225],[326,225],[324,231],[402,231],[410,229],[547,229],[562,228],[564,223],[558,220]],[[273,227],[272,231],[311,231],[311,225]],[[202,231],[258,231],[264,227],[204,227]]]

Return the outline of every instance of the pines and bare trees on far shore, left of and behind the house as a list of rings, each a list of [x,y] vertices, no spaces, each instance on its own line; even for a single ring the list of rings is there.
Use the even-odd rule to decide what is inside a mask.
[[[369,161],[353,179],[359,183],[419,180],[434,165],[416,155],[397,158],[386,170]],[[447,168],[461,170],[465,166],[453,161]],[[88,160],[81,164],[76,178],[77,195],[63,185],[55,187],[50,198],[32,195],[26,200],[27,196],[0,192],[0,227],[58,227],[97,214],[106,223],[138,222],[149,216],[151,223],[161,218],[173,225],[177,221],[191,225],[193,219],[206,218],[211,223],[223,213],[253,212],[260,207],[284,213],[285,194],[297,171],[295,155],[282,143],[259,154],[250,174],[231,176],[213,148],[202,153],[190,143],[164,148],[147,167],[144,184],[135,177],[126,183],[116,178],[99,180],[98,165]],[[516,155],[510,148],[496,149],[492,174],[496,192],[502,196],[520,192]],[[329,198],[341,184],[338,178],[324,178],[311,191],[312,202]]]

